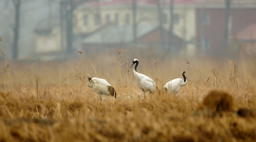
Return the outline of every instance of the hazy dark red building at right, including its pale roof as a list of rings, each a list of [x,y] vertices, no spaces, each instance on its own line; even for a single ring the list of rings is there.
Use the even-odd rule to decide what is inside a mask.
[[[225,0],[197,0],[196,42],[200,51],[220,55],[224,48]],[[256,23],[256,0],[232,0],[228,20],[229,40],[232,35]]]

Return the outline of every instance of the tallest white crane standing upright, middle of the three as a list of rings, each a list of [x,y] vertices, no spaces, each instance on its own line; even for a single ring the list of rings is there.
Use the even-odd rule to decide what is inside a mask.
[[[148,76],[144,75],[144,74],[140,74],[137,72],[137,66],[139,65],[139,60],[138,59],[134,59],[132,61],[132,65],[131,67],[134,65],[134,76],[137,80],[137,84],[139,86],[139,88],[143,91],[144,93],[144,98],[146,99],[145,97],[145,93],[148,93],[148,94],[152,94],[157,88],[157,85],[156,83],[154,82],[154,80],[152,80],[151,78],[149,78]]]

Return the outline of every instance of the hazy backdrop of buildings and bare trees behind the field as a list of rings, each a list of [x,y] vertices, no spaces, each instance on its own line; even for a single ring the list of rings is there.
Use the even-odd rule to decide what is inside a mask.
[[[256,0],[0,0],[0,36],[9,60],[255,57],[255,13]]]

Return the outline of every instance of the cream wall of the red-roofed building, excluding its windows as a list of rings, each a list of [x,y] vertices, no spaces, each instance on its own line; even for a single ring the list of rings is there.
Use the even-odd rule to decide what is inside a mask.
[[[84,10],[86,9],[86,10]],[[115,14],[119,14],[119,24],[125,24],[126,14],[130,16],[130,23],[133,24],[132,10],[131,6],[111,6],[111,7],[101,7],[100,15],[102,19],[101,25],[95,25],[94,14],[97,13],[96,7],[94,8],[84,8],[77,9],[74,12],[75,15],[75,34],[86,34],[95,31],[104,24],[106,24],[106,15],[110,15],[111,22],[114,22]],[[174,10],[175,14],[178,14],[178,22],[174,25],[174,33],[187,41],[193,40],[195,38],[195,9],[192,7],[178,6]],[[164,23],[164,28],[169,29],[170,19],[169,19],[169,6],[163,6],[163,14],[166,15],[166,22]],[[88,24],[84,25],[84,15],[88,15]],[[157,25],[158,13],[157,6],[147,6],[138,7],[137,9],[137,23],[139,24],[153,24]],[[185,29],[185,30],[183,30]],[[139,29],[138,29],[139,30]]]

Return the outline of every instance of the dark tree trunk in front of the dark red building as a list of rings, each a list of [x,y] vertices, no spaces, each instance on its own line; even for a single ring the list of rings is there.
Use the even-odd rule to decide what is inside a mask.
[[[228,21],[230,17],[230,4],[231,0],[225,0],[225,28],[224,28],[224,47],[227,48],[228,45]]]

